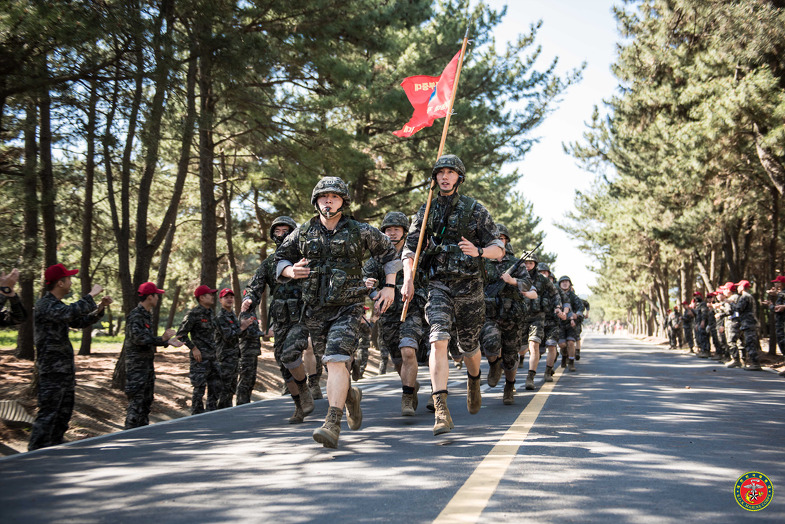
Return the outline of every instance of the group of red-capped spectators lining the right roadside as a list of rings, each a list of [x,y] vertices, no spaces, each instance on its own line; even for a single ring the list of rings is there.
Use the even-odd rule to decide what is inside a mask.
[[[785,276],[771,282],[768,298],[761,305],[774,314],[777,347],[785,355]],[[749,292],[751,285],[748,280],[726,282],[706,297],[696,291],[692,302],[682,302],[681,310],[668,310],[671,349],[686,345],[699,358],[725,362],[729,368],[761,371],[758,304]],[[785,376],[785,371],[780,376]]]

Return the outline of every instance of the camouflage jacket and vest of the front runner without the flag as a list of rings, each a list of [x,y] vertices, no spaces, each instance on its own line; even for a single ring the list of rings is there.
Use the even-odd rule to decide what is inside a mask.
[[[275,252],[276,276],[281,283],[290,279],[283,270],[299,260],[308,260],[311,274],[302,279],[303,301],[309,306],[348,306],[362,303],[368,295],[362,278],[367,254],[383,264],[385,274],[401,267],[395,248],[375,227],[342,216],[330,231],[312,218],[295,229]]]

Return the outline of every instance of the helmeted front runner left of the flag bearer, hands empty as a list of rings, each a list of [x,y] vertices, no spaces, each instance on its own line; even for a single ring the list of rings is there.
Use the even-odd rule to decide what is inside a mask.
[[[384,265],[385,286],[376,298],[381,313],[395,299],[395,278],[401,264],[385,235],[344,215],[351,199],[343,180],[321,179],[313,189],[311,204],[318,215],[286,237],[275,262],[279,282],[303,279],[305,308],[301,322],[311,336],[314,354],[322,357],[328,372],[330,408],[313,438],[325,447],[336,448],[344,406],[349,429],[362,426],[362,392],[351,386],[349,366],[368,294],[362,279],[363,260],[369,253]],[[298,383],[305,380],[302,352],[287,340],[281,356]]]

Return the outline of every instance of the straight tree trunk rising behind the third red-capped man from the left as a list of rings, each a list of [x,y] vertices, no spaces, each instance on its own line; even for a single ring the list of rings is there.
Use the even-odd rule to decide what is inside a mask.
[[[199,48],[199,195],[202,214],[202,270],[200,284],[215,287],[218,279],[216,241],[218,229],[215,217],[215,184],[213,161],[213,118],[215,100],[213,96],[211,49],[212,28],[210,21],[197,21]]]

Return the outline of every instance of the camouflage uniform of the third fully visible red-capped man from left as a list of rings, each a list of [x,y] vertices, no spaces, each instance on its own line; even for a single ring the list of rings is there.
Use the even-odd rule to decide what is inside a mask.
[[[215,317],[213,310],[201,305],[193,308],[185,315],[176,336],[191,350],[189,352],[191,359],[190,378],[191,385],[194,388],[191,397],[191,414],[197,415],[204,413],[205,410],[215,410],[218,407],[218,400],[221,396],[221,370],[218,368],[215,352]],[[201,352],[201,362],[197,362],[194,358],[194,348],[198,348]],[[207,389],[206,407],[204,405],[205,389]]]

